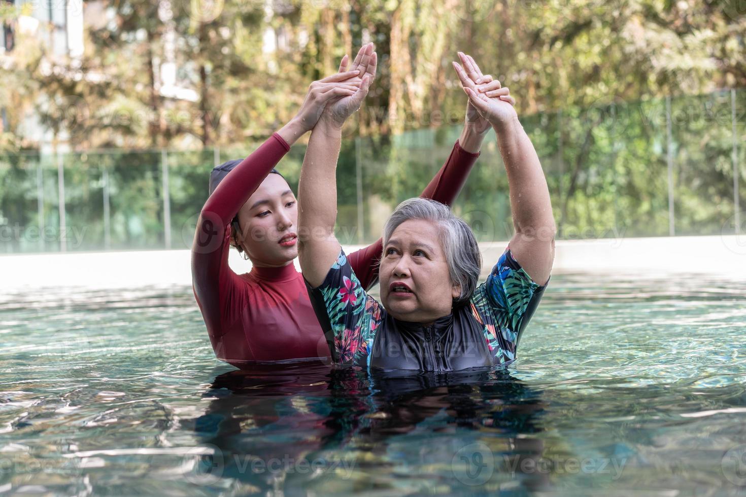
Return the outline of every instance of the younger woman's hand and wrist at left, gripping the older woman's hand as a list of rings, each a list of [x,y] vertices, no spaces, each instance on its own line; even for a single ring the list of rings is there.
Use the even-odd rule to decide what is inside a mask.
[[[345,55],[345,57],[347,57]],[[360,71],[354,70],[336,72],[322,80],[314,81],[308,86],[308,93],[301,104],[301,110],[295,115],[295,119],[306,132],[313,130],[319,122],[325,107],[335,99],[355,95],[360,89]]]

